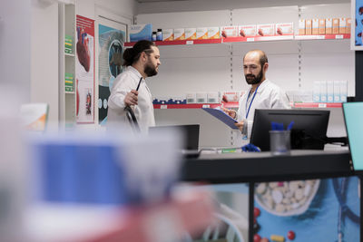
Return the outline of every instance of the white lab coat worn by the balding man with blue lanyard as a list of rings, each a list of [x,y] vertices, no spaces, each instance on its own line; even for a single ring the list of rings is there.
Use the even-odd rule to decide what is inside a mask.
[[[289,98],[286,93],[268,79],[260,83],[253,101],[252,97],[254,93],[251,93],[250,98],[248,99],[249,93],[250,90],[240,97],[237,119],[238,121],[248,121],[248,137],[250,138],[250,131],[252,130],[253,118],[255,116],[256,109],[290,109],[291,107],[289,106]],[[250,104],[250,102],[252,103]],[[246,117],[249,107],[250,112]]]

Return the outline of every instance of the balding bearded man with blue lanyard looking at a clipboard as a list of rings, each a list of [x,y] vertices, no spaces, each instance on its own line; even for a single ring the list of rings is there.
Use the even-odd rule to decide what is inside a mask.
[[[250,138],[256,109],[289,109],[289,98],[275,83],[266,78],[269,62],[261,50],[253,50],[243,57],[243,72],[250,90],[240,97],[238,111],[223,109],[239,122],[242,134]]]

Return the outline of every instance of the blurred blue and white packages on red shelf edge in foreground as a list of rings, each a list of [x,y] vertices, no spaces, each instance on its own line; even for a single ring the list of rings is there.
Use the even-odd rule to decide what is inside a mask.
[[[210,198],[174,192],[178,131],[32,135],[26,241],[180,241],[208,226]]]

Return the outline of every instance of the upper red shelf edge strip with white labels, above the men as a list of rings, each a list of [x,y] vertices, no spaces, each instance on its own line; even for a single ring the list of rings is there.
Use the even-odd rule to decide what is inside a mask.
[[[343,40],[350,39],[350,34],[318,34],[318,35],[281,35],[281,36],[254,36],[254,37],[229,37],[212,40],[181,40],[181,41],[156,41],[156,45],[193,45],[193,44],[223,44],[292,40]],[[125,47],[131,47],[135,42],[125,43]]]

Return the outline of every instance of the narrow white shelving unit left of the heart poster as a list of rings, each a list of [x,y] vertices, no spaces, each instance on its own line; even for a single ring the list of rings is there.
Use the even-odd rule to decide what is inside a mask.
[[[75,126],[76,93],[75,93],[75,5],[59,4],[59,119],[60,128]],[[64,52],[65,35],[73,36],[73,53]],[[74,91],[65,91],[65,73],[74,75]]]

